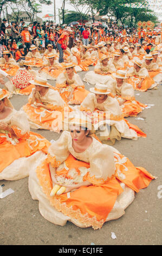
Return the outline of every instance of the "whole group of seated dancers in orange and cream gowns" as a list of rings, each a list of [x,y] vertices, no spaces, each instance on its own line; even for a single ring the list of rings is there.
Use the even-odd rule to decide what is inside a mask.
[[[121,64],[120,50],[102,53],[100,45],[82,46],[88,54],[98,53],[96,59],[90,57],[93,63],[86,64],[94,66],[93,71],[83,66],[87,60],[59,64],[56,55],[51,57],[54,53],[44,55],[46,60],[40,61],[50,63],[55,86],[51,77],[44,77],[48,64],[35,70],[31,59],[22,60],[12,78],[7,70],[1,72],[9,80],[0,89],[0,179],[28,176],[31,198],[39,200],[40,214],[54,224],[70,221],[81,228],[100,229],[124,215],[135,193],[155,179],[112,146],[116,139],[146,138],[126,118],[146,107],[135,100],[134,90],[146,92],[160,84],[161,58],[154,59],[159,52],[115,65],[114,59]],[[83,81],[92,85],[89,90],[77,68],[87,71]],[[14,94],[29,95],[19,111],[10,101]],[[30,128],[61,135],[49,142]]]

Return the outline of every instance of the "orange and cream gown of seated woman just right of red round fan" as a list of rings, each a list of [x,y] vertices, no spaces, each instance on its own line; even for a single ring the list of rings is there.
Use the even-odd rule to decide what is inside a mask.
[[[85,85],[83,84],[80,76],[76,73],[74,73],[72,79],[69,79],[66,72],[61,73],[57,77],[56,86],[54,89],[60,92],[62,99],[67,103],[69,102],[68,97],[70,92],[72,92],[74,89],[72,99],[70,99],[70,101],[74,102],[74,104],[76,101],[81,103],[89,93],[85,89]]]

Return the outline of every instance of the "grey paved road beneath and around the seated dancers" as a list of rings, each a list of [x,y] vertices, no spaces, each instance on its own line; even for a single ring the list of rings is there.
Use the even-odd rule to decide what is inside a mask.
[[[80,73],[81,78],[84,75],[85,72]],[[51,84],[54,85],[55,81]],[[89,89],[86,83],[85,86]],[[2,180],[0,185],[4,185],[3,191],[12,188],[15,192],[0,199],[1,245],[161,245],[162,86],[145,93],[135,91],[135,97],[142,103],[153,104],[138,115],[144,120],[128,118],[147,134],[147,138],[139,138],[138,141],[122,138],[114,147],[127,156],[134,166],[144,167],[158,178],[135,194],[135,199],[126,209],[125,215],[118,220],[106,222],[101,230],[82,229],[70,222],[61,227],[41,216],[38,201],[31,199],[28,191],[28,178],[17,181]],[[11,102],[18,110],[27,99],[27,96],[14,95]],[[36,132],[49,140],[60,137],[46,130]],[[112,239],[112,232],[116,239]]]

